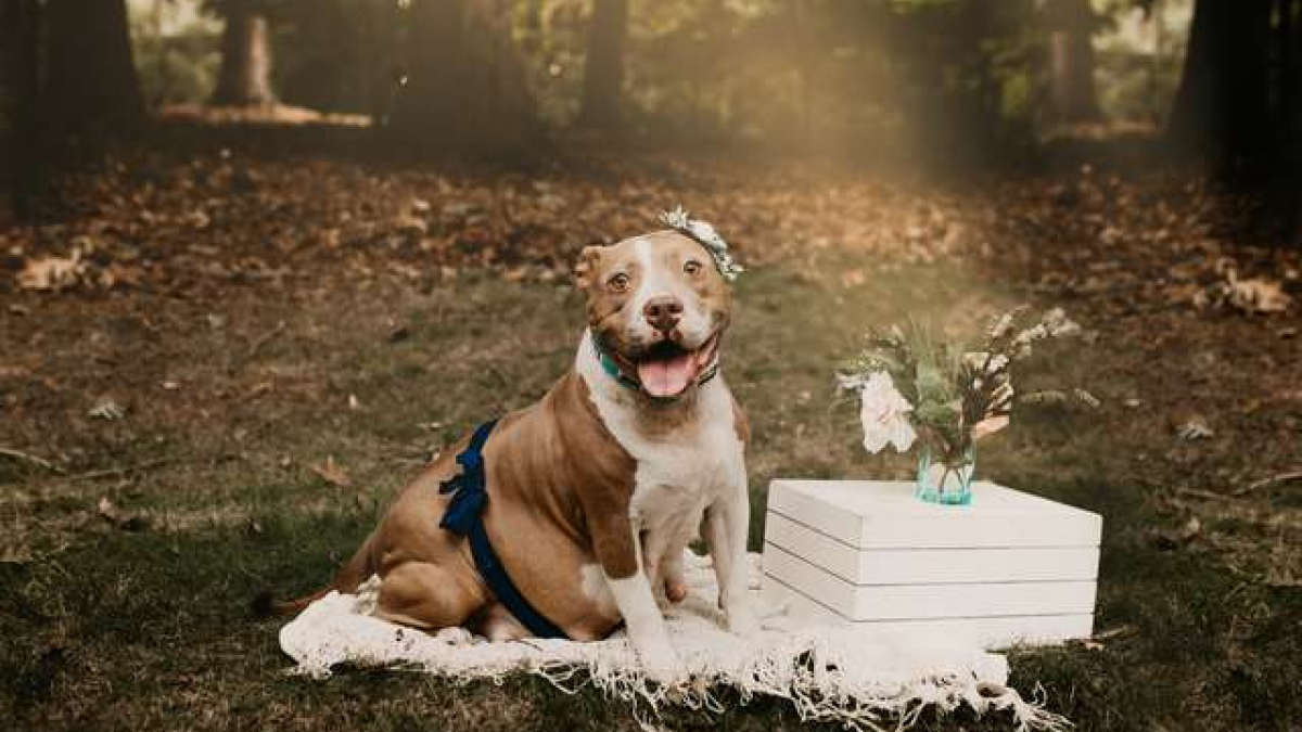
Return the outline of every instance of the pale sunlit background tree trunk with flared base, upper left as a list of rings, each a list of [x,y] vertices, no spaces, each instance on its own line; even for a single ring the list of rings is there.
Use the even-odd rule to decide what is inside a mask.
[[[223,10],[227,25],[221,33],[221,70],[212,103],[227,107],[275,104],[267,17],[249,0],[229,0]]]

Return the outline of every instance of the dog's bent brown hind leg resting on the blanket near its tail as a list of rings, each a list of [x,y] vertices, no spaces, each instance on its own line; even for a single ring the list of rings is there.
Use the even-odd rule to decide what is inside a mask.
[[[393,623],[439,630],[465,624],[487,599],[474,580],[437,564],[410,561],[384,576],[375,613]]]

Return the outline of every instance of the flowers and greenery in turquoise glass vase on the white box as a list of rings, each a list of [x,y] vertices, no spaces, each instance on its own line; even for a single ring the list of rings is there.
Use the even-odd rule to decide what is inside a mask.
[[[936,503],[971,501],[973,445],[1008,426],[1014,404],[1078,401],[1098,406],[1090,392],[1046,389],[1017,396],[1012,367],[1035,343],[1078,335],[1061,309],[1034,324],[1026,309],[996,317],[976,346],[941,343],[918,324],[868,335],[867,346],[841,374],[859,392],[863,447],[871,453],[921,443],[918,496]]]

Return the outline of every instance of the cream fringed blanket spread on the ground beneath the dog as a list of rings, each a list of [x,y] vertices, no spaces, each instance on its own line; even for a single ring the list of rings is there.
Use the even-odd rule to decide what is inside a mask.
[[[759,555],[750,555],[758,589]],[[671,640],[691,683],[648,681],[622,632],[605,641],[529,640],[492,643],[456,628],[428,634],[371,615],[378,578],[357,595],[331,593],[280,630],[296,671],[328,676],[339,664],[417,668],[454,680],[535,673],[570,692],[591,684],[634,705],[637,714],[664,706],[720,709],[715,692],[733,689],[742,703],[755,694],[790,699],[801,719],[897,729],[927,707],[967,705],[978,714],[1009,710],[1017,729],[1061,729],[1068,722],[1006,686],[1004,656],[975,647],[907,647],[866,638],[848,626],[810,625],[783,608],[762,607],[764,630],[741,638],[720,626],[717,587],[708,557],[686,555],[687,598],[667,611]],[[756,594],[756,602],[759,602]],[[943,641],[943,640],[941,640]]]

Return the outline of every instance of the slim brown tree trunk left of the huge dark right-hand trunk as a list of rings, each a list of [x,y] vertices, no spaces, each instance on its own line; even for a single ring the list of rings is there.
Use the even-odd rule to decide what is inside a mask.
[[[1090,0],[1049,5],[1049,79],[1053,119],[1091,122],[1103,116],[1094,86],[1094,10]]]

